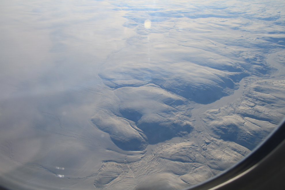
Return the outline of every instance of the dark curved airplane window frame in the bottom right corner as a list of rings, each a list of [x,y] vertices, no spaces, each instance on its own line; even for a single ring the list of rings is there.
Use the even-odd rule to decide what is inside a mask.
[[[285,189],[285,119],[244,159],[185,190]]]

